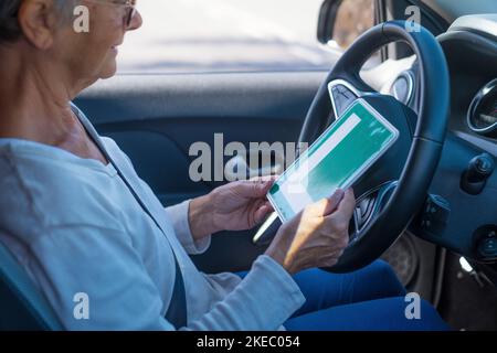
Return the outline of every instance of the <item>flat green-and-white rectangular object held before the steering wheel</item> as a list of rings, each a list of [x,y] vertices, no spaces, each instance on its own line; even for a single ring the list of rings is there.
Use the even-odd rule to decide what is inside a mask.
[[[337,189],[352,186],[398,138],[395,127],[358,99],[275,181],[267,199],[288,221]]]

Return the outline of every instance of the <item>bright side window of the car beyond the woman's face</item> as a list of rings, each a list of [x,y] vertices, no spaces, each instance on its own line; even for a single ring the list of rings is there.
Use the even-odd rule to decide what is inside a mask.
[[[345,0],[348,1],[355,0]],[[321,3],[322,0],[139,0],[144,25],[127,34],[119,52],[119,72],[329,69],[347,47],[348,39],[353,38],[348,31],[366,24],[352,24],[355,17],[341,17],[338,23],[342,30],[337,32],[342,39],[340,45],[319,44],[316,32]],[[370,17],[372,24],[372,11]]]

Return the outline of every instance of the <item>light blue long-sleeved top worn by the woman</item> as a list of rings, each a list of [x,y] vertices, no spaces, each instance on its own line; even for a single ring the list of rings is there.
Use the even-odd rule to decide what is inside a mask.
[[[204,252],[210,237],[193,242],[189,201],[165,211],[114,140],[97,136],[74,109],[165,233],[112,163],[0,139],[0,242],[62,324],[67,330],[175,330],[163,318],[175,282],[175,252],[187,292],[188,324],[182,330],[282,329],[305,301],[292,277],[268,256],[260,256],[243,281],[233,274],[200,272],[187,253]],[[74,315],[77,293],[87,295],[88,319]]]

